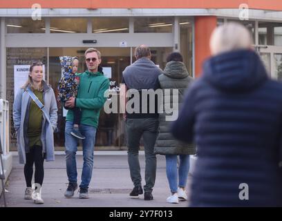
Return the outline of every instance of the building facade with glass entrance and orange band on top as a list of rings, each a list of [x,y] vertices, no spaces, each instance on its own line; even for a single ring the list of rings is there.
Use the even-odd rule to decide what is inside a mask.
[[[72,2],[68,4],[68,2]],[[192,77],[201,73],[209,56],[212,30],[229,21],[243,23],[252,33],[254,47],[268,73],[282,79],[282,3],[272,1],[35,1],[11,0],[0,3],[1,98],[10,103],[10,150],[15,151],[12,103],[19,83],[17,66],[41,60],[45,79],[56,91],[61,77],[59,56],[79,59],[79,72],[86,69],[84,51],[102,52],[102,66],[111,81],[110,89],[119,91],[122,71],[135,61],[136,46],[151,48],[152,60],[164,68],[167,55],[179,51]],[[255,2],[255,3],[254,3]],[[245,20],[240,20],[240,19]],[[33,18],[33,19],[32,19]],[[57,150],[64,149],[64,111],[59,106]],[[97,148],[124,149],[122,114],[101,111]]]

